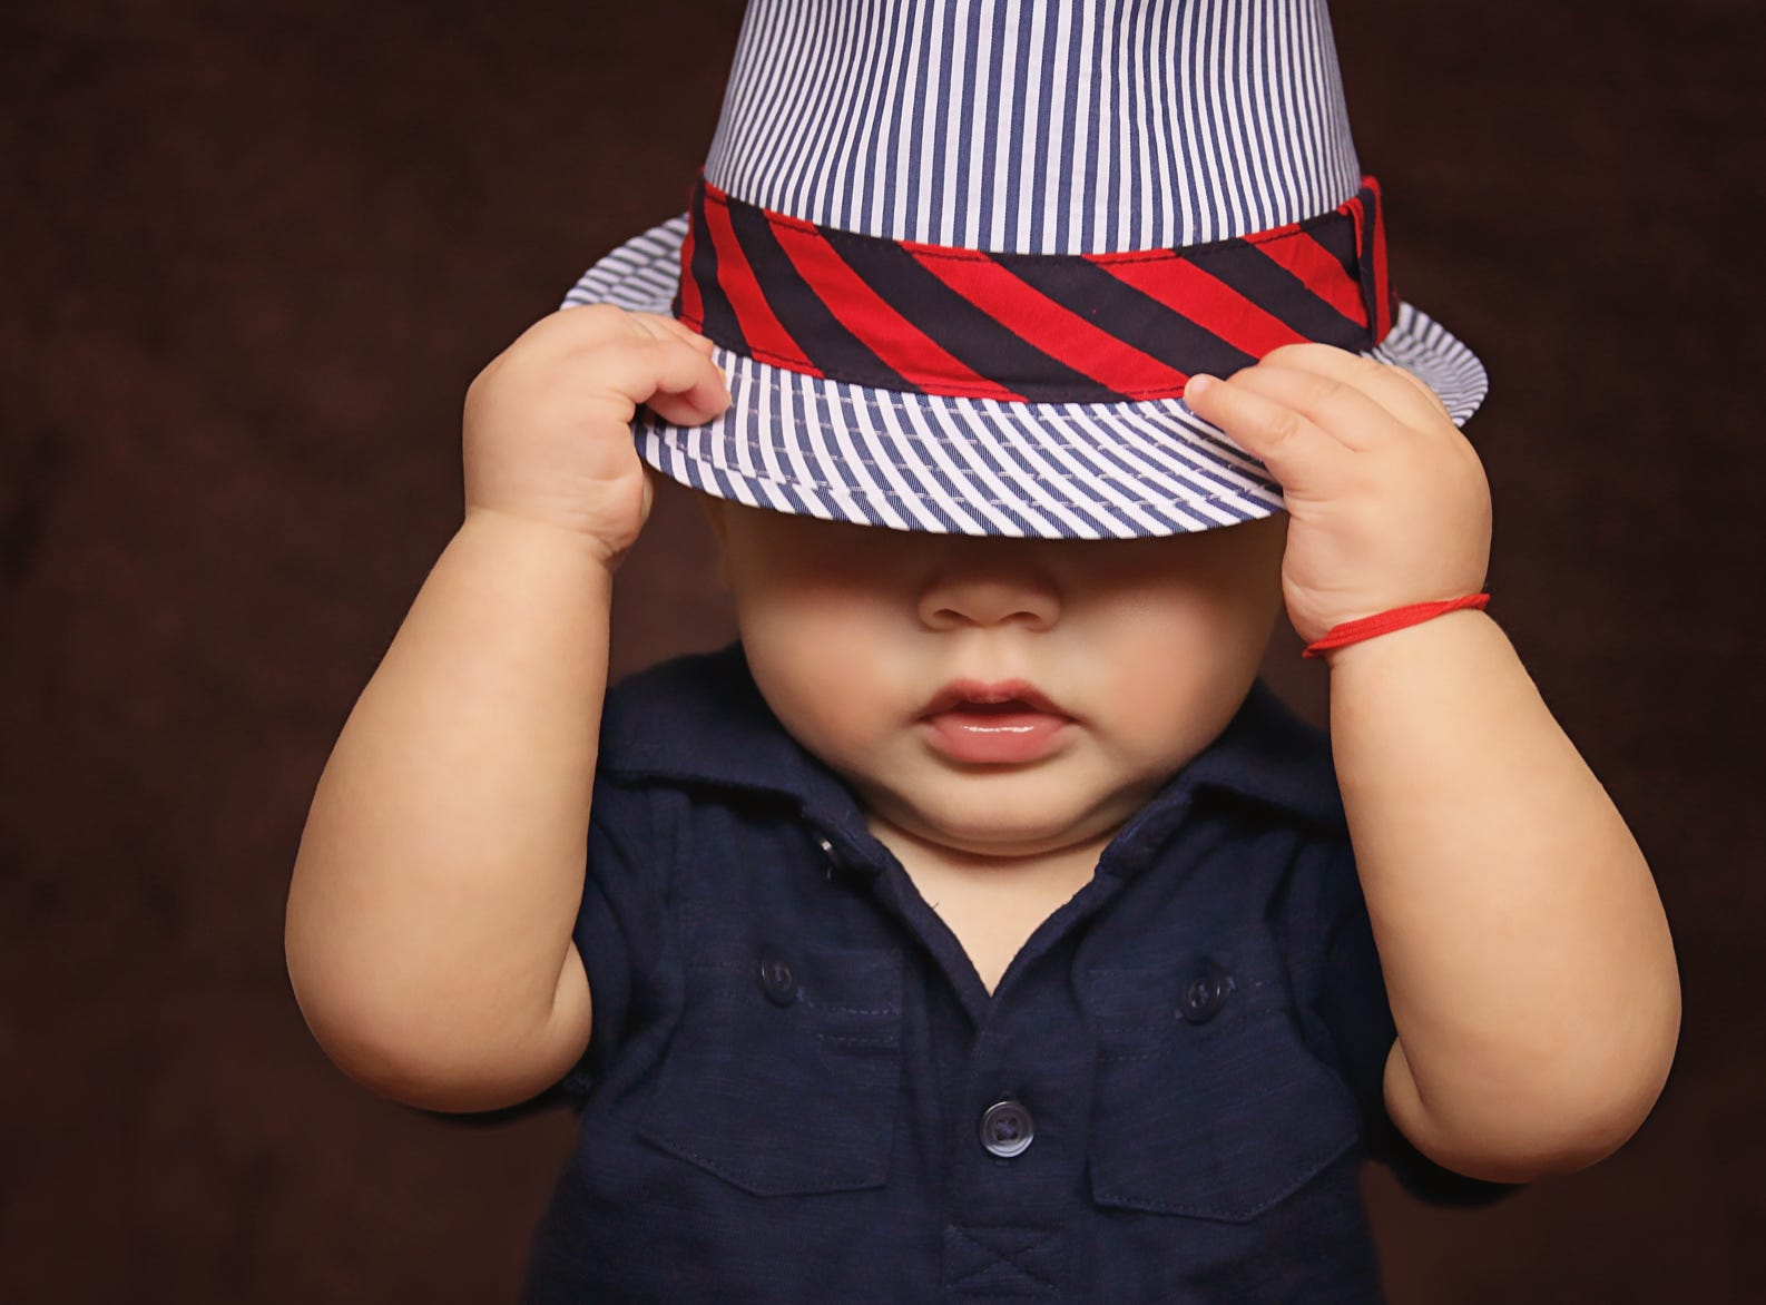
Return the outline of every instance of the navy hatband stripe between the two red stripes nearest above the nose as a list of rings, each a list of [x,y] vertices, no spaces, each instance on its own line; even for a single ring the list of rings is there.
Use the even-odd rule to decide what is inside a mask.
[[[892,309],[987,380],[1037,401],[1104,403],[1123,397],[982,313],[901,245],[844,231],[823,235]]]

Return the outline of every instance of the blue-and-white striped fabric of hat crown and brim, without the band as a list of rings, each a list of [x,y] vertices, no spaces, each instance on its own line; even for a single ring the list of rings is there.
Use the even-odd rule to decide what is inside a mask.
[[[754,0],[705,173],[816,224],[1030,254],[1252,235],[1332,212],[1362,178],[1323,0]],[[669,313],[685,231],[682,215],[627,242],[565,304]],[[1459,422],[1483,399],[1478,358],[1408,304],[1372,355]],[[726,413],[634,429],[652,466],[721,498],[1045,539],[1282,507],[1181,399],[938,397],[715,357]]]

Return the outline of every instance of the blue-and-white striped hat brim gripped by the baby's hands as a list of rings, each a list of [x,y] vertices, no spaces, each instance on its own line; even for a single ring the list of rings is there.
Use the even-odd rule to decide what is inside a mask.
[[[669,313],[687,217],[595,263],[565,306]],[[1478,357],[1400,304],[1370,357],[1423,380],[1464,424],[1489,388]],[[1282,510],[1263,464],[1181,399],[1003,403],[865,388],[719,348],[729,408],[632,424],[657,471],[717,498],[892,530],[1028,539],[1143,539]]]

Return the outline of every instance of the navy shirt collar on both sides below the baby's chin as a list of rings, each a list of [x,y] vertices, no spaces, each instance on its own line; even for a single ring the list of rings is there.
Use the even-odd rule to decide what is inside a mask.
[[[600,773],[777,795],[795,800],[816,823],[864,826],[846,782],[779,724],[740,643],[622,680],[602,713]],[[1176,818],[1199,789],[1229,793],[1300,823],[1344,828],[1328,736],[1261,680],[1220,736],[1173,775],[1130,826],[1167,825],[1166,816]]]

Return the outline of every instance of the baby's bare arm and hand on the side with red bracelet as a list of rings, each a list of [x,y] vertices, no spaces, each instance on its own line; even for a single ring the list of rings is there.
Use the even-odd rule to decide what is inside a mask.
[[[1483,586],[1489,489],[1432,394],[1319,344],[1190,406],[1264,459],[1291,512],[1307,641]],[[1609,1155],[1679,1033],[1667,920],[1630,830],[1480,611],[1330,653],[1332,747],[1399,1040],[1393,1121],[1475,1178]]]

